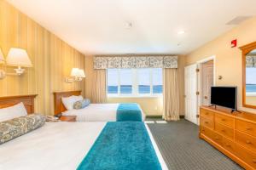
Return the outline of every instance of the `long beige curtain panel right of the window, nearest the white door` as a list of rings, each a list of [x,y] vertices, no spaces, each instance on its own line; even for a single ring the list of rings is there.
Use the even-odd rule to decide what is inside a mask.
[[[179,120],[179,88],[177,69],[163,69],[164,113],[166,121]]]

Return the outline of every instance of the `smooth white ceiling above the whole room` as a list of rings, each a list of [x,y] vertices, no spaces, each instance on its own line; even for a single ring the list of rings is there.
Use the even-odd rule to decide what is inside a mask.
[[[256,14],[255,0],[8,2],[84,54],[187,54]]]

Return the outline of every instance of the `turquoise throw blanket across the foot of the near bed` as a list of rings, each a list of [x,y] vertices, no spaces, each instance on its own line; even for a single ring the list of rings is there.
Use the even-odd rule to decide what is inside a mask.
[[[78,170],[160,170],[143,122],[108,122]]]

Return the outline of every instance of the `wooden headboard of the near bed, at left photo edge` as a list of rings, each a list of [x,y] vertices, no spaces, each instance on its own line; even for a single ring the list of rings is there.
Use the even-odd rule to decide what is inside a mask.
[[[0,97],[0,108],[13,106],[22,102],[26,107],[27,114],[32,114],[34,113],[34,99],[37,95],[38,94]]]

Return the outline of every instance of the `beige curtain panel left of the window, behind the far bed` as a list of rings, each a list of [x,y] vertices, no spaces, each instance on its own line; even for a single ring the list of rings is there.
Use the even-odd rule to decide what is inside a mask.
[[[106,103],[106,69],[94,70],[92,85],[92,103]]]

